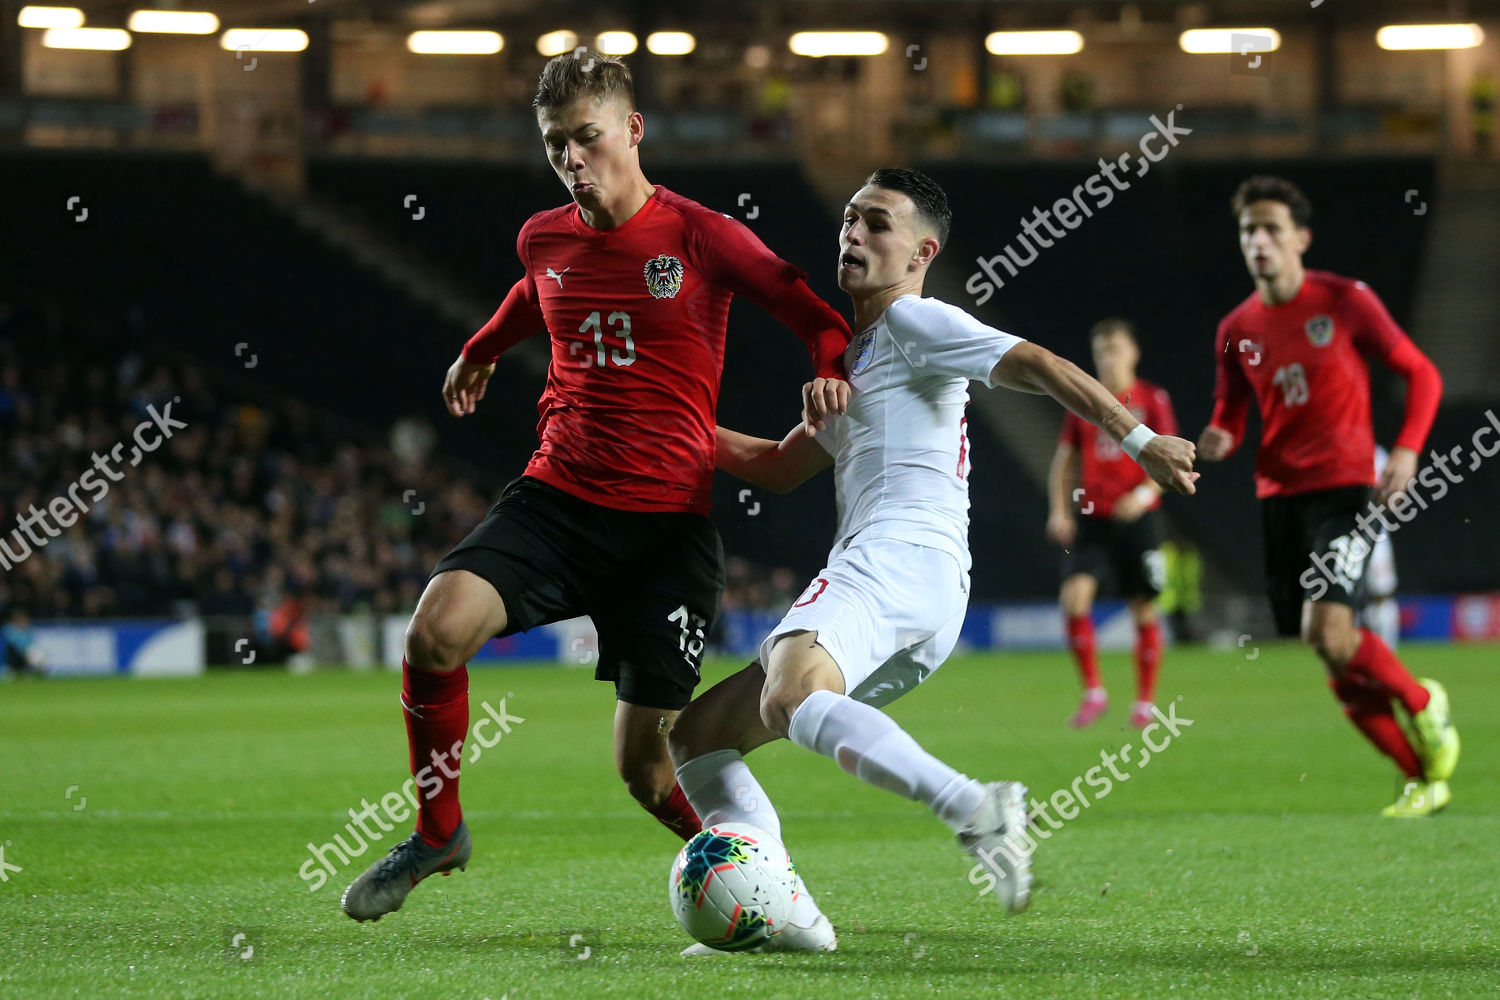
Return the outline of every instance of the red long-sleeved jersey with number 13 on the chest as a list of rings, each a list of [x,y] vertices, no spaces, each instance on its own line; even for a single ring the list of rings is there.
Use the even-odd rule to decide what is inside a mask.
[[[666,187],[614,229],[591,228],[576,204],[538,213],[520,228],[516,253],[525,277],[464,355],[489,364],[548,330],[540,447],[526,475],[580,499],[708,513],[736,292],[807,342],[818,375],[843,378],[849,324],[813,294],[804,271],[742,223]]]

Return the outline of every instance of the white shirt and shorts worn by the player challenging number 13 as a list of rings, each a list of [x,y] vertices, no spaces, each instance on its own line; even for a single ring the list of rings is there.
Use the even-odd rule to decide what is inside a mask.
[[[1020,337],[957,306],[902,295],[844,351],[854,394],[814,441],[834,457],[828,565],[760,643],[816,631],[844,693],[880,706],[942,666],[969,603],[969,379]]]

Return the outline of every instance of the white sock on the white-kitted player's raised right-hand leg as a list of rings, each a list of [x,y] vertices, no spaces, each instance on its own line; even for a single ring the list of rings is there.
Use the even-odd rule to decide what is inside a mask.
[[[808,694],[792,712],[788,736],[861,781],[926,804],[954,831],[984,802],[982,784],[922,750],[880,709],[846,694]]]

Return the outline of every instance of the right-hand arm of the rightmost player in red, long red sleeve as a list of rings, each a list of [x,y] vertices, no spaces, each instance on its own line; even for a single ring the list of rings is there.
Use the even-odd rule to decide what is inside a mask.
[[[1432,420],[1437,418],[1437,405],[1443,399],[1443,376],[1432,360],[1396,325],[1368,285],[1359,282],[1350,295],[1350,304],[1360,319],[1354,343],[1400,375],[1407,387],[1401,433],[1390,447],[1390,457],[1386,459],[1376,489],[1376,499],[1383,504],[1416,477],[1418,453],[1426,444]]]

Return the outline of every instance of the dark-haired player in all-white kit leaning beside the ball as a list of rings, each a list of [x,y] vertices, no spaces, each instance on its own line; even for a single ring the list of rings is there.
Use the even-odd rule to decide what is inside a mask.
[[[1188,441],[1155,435],[1072,363],[921,298],[950,220],[946,196],[924,174],[872,174],[844,207],[838,243],[838,285],[862,331],[844,354],[848,415],[812,418],[780,444],[718,427],[718,468],[766,490],[786,492],[832,465],[838,535],[826,567],[760,643],[760,658],[692,702],[669,748],[705,828],[753,823],[777,838],[782,822],[744,754],[784,736],[832,757],[932,808],[978,858],[974,885],[987,880],[984,891],[1018,910],[1030,858],[1011,835],[1026,825],[1026,787],[960,774],[879,711],[944,663],[963,625],[969,381],[1058,399],[1120,441],[1164,489],[1192,493],[1197,474]],[[804,412],[826,391],[824,379],[804,387]],[[828,918],[798,885],[790,924],[765,948],[836,946]]]

